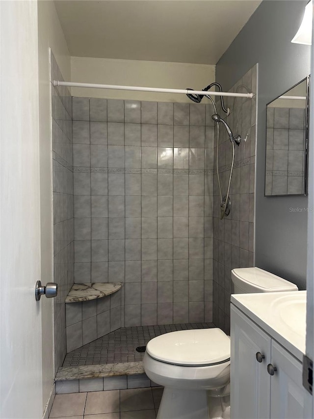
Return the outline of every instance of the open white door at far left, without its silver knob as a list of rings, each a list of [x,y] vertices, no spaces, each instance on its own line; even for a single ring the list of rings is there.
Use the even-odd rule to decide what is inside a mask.
[[[37,2],[0,1],[0,418],[42,418]]]

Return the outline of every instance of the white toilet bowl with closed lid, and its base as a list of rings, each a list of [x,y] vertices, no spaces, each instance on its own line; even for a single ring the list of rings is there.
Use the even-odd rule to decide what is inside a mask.
[[[218,328],[160,335],[148,342],[143,362],[164,386],[158,419],[208,419],[207,391],[230,380],[230,337]]]

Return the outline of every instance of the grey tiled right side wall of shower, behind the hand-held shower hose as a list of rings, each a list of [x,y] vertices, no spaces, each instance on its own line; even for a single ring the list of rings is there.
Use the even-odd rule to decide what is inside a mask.
[[[257,93],[256,64],[230,89],[235,93]],[[256,96],[252,99],[228,98],[230,115],[223,116],[234,135],[243,139],[235,145],[228,217],[219,219],[220,196],[217,174],[214,175],[213,203],[213,323],[230,334],[231,270],[252,267],[255,263],[255,156],[256,156]],[[220,109],[218,113],[223,115]],[[221,129],[221,128],[220,128]],[[219,142],[219,173],[223,194],[227,193],[232,144],[225,130]],[[217,152],[215,143],[215,156]]]

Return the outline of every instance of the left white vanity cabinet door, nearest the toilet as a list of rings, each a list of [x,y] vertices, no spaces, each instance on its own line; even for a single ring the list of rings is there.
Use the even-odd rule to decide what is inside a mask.
[[[231,418],[265,419],[270,415],[271,339],[231,305]],[[259,363],[256,354],[265,358]]]

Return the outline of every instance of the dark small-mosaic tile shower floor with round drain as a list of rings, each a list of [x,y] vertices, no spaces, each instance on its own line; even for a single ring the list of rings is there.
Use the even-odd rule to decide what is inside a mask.
[[[142,361],[144,353],[136,352],[135,349],[146,345],[153,337],[177,330],[211,327],[215,327],[213,323],[124,327],[69,352],[62,366]]]

